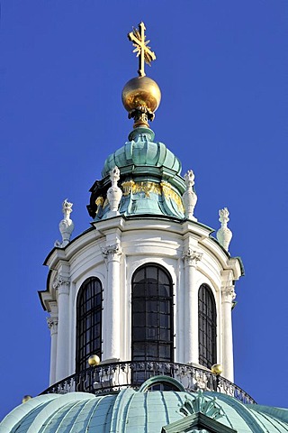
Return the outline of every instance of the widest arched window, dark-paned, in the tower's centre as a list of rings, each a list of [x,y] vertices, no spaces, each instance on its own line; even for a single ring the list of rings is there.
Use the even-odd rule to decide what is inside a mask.
[[[173,362],[173,285],[166,269],[141,266],[132,277],[132,361]]]

